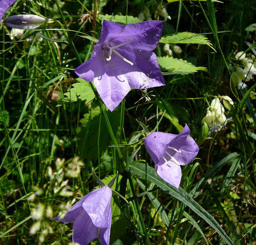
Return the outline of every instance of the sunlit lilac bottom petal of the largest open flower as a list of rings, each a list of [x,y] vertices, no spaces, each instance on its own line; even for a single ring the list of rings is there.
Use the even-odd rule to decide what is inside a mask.
[[[110,76],[110,74],[104,73],[101,77],[94,79],[94,85],[102,101],[111,112],[130,91],[128,80],[124,75]]]

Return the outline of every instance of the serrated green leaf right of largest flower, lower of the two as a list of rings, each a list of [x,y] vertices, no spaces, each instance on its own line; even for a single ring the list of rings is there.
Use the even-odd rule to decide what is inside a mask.
[[[192,63],[183,59],[177,59],[174,57],[157,57],[161,70],[172,71],[172,72],[185,72],[194,73],[198,70],[207,71],[206,67],[194,66]]]

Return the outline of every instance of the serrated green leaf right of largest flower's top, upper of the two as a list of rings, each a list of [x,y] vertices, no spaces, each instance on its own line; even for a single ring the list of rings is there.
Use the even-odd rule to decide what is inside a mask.
[[[163,44],[206,44],[213,49],[207,37],[192,32],[179,32],[161,37],[159,43]]]

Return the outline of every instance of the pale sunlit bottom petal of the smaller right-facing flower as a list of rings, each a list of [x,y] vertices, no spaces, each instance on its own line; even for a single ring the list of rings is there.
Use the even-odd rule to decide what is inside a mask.
[[[177,189],[181,183],[181,167],[174,162],[168,162],[162,165],[156,165],[155,170],[157,174],[167,183],[175,186]]]

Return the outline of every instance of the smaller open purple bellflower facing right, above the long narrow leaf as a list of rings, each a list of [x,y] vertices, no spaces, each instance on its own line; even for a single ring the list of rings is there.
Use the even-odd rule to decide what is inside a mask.
[[[181,165],[190,163],[199,151],[189,134],[190,129],[186,124],[179,134],[153,132],[144,140],[157,174],[177,189],[181,182]]]

